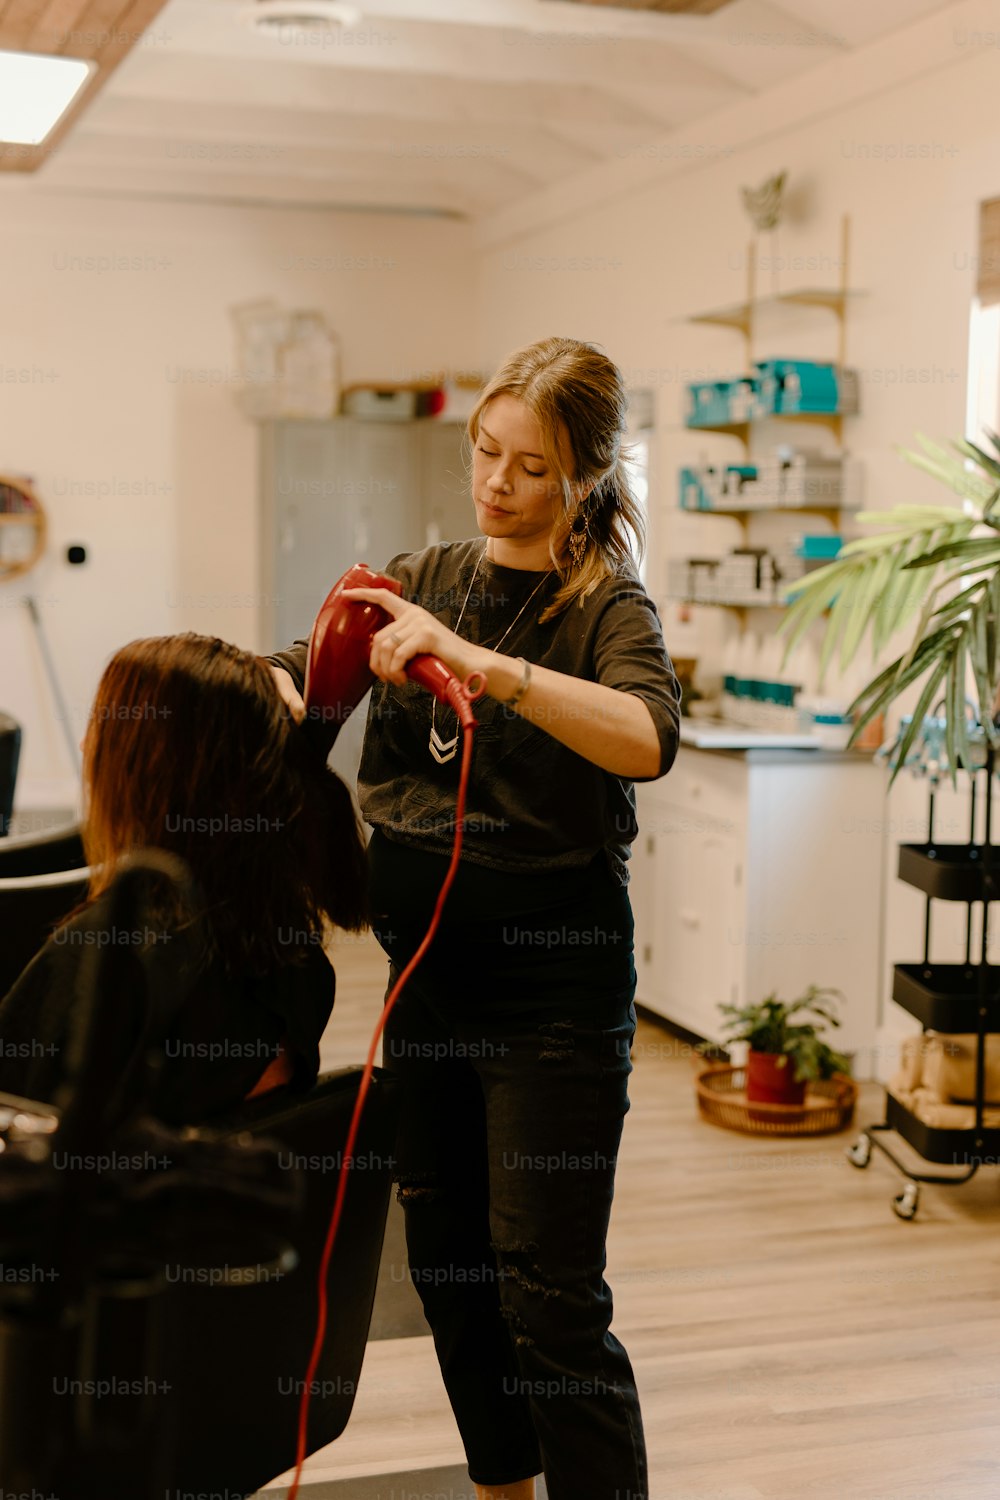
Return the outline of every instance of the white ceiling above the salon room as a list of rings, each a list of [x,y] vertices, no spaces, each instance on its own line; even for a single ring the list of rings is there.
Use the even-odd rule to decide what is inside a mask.
[[[136,196],[496,214],[885,38],[949,0],[355,0],[258,36],[252,0],[169,0],[37,182]]]

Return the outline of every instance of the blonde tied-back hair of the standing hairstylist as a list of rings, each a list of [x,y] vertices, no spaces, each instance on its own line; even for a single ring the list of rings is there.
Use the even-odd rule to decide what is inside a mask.
[[[628,398],[618,366],[580,339],[540,339],[508,354],[469,416],[472,447],[483,412],[496,396],[514,396],[531,411],[541,429],[546,462],[562,484],[562,510],[549,536],[549,556],[562,586],[540,615],[543,621],[552,620],[573,600],[583,603],[603,579],[634,572],[636,558],[645,550],[645,518],[625,466]],[[559,452],[562,432],[573,454],[573,474]],[[589,490],[580,504],[579,490]],[[583,558],[574,566],[565,554],[577,513],[586,518],[589,534]]]

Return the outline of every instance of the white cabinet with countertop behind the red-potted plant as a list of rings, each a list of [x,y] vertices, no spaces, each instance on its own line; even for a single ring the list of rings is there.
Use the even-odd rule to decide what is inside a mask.
[[[867,756],[682,747],[637,786],[637,1000],[721,1040],[721,1004],[838,988],[835,1044],[876,1044],[888,772]]]

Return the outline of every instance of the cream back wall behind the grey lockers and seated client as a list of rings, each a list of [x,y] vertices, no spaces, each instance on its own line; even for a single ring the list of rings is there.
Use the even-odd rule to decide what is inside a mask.
[[[345,381],[468,370],[474,261],[447,220],[0,190],[0,472],[31,476],[51,519],[40,566],[0,584],[0,704],[24,724],[18,806],[67,806],[28,590],[73,741],[123,642],[202,630],[258,646],[255,429],[232,399],[226,309],[321,308]]]

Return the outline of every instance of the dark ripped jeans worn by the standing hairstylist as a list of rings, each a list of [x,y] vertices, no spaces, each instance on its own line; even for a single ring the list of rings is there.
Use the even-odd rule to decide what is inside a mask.
[[[369,846],[390,986],[426,932],[447,858]],[[628,1110],[636,972],[628,894],[604,856],[511,876],[462,864],[394,1006],[409,1274],[469,1476],[544,1472],[550,1500],[645,1500],[628,1356],[609,1324],[606,1236]]]

